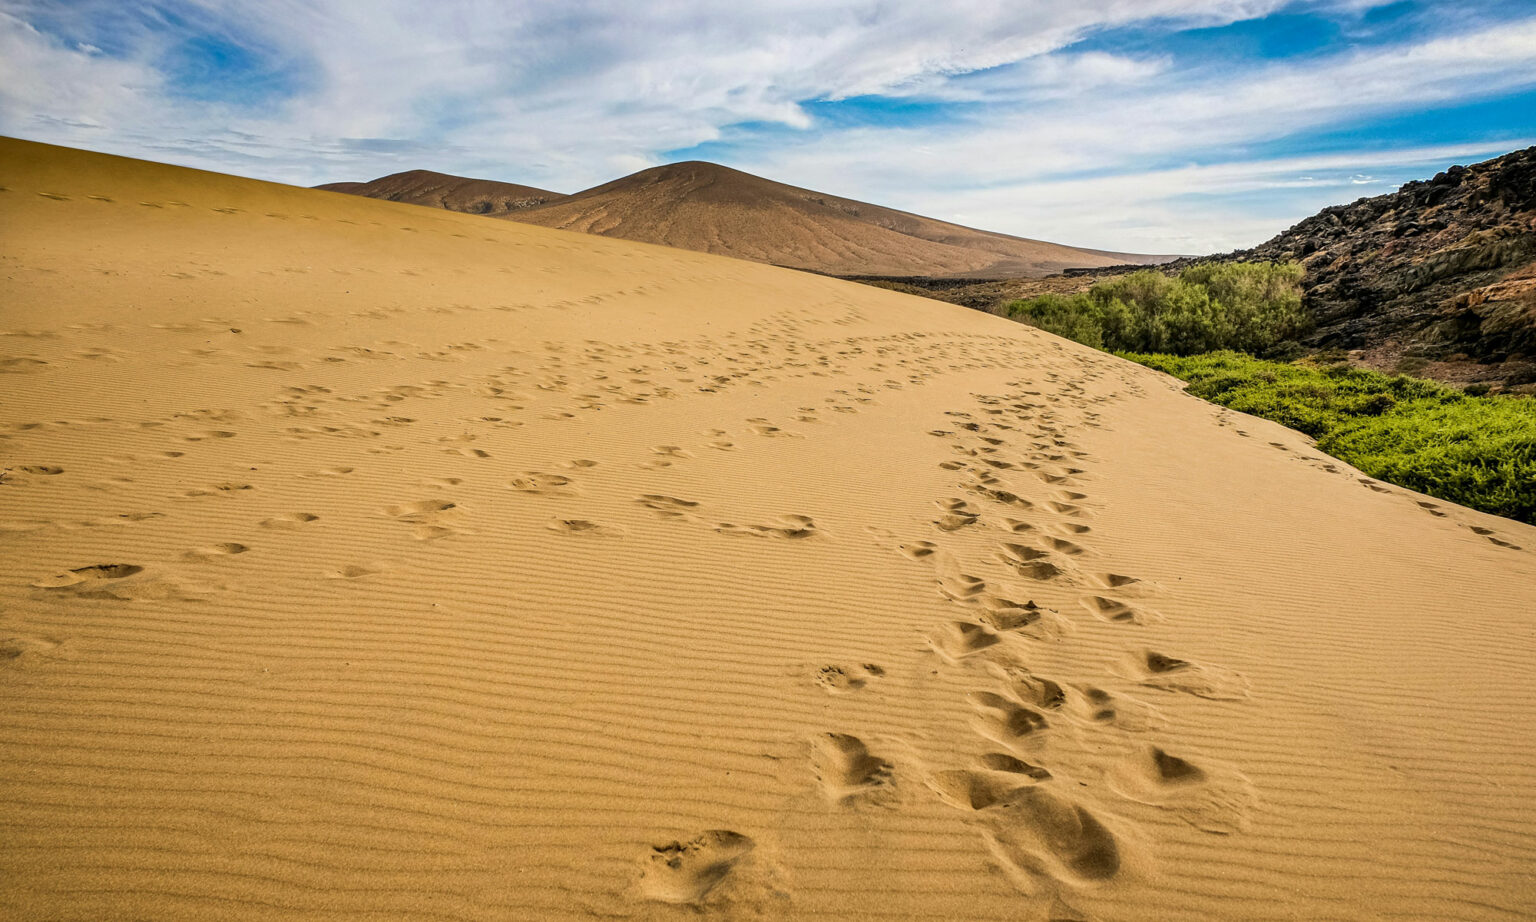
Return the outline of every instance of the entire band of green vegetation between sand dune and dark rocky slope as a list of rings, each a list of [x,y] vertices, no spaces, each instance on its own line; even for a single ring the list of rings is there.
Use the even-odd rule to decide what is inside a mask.
[[[1536,400],[1482,396],[1295,355],[1296,263],[1132,272],[1000,313],[1164,370],[1212,403],[1304,432],[1373,478],[1536,524]]]

